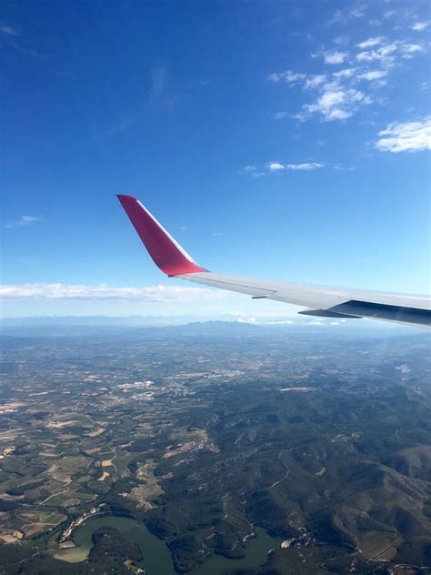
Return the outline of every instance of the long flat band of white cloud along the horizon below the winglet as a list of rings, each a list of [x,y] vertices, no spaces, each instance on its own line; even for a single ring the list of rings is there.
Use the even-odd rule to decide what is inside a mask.
[[[210,287],[147,286],[109,287],[84,284],[10,284],[0,286],[0,296],[8,299],[78,299],[78,300],[136,300],[136,301],[200,301],[226,298],[229,292]]]

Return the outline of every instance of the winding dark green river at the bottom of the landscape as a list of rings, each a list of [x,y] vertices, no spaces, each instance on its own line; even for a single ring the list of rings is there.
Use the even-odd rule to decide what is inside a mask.
[[[101,527],[113,527],[125,539],[139,546],[144,556],[139,567],[145,568],[147,575],[177,575],[165,541],[155,537],[144,523],[126,517],[105,516],[87,520],[74,532],[73,539],[76,547],[56,551],[55,558],[68,562],[85,560],[93,545],[93,533]],[[246,541],[246,556],[243,559],[226,559],[222,555],[214,554],[194,570],[189,571],[188,575],[219,575],[226,569],[250,569],[263,565],[267,560],[268,551],[279,547],[281,540],[270,537],[266,530],[259,527],[256,527],[255,531],[256,537],[251,537]]]

